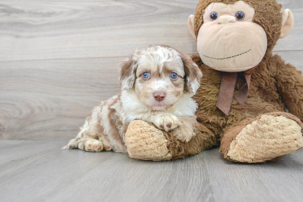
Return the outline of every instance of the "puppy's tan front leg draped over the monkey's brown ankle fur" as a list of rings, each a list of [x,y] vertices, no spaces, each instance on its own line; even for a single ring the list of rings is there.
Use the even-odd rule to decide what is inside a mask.
[[[176,137],[178,140],[184,142],[189,142],[191,138],[193,138],[196,133],[198,133],[199,126],[196,120],[196,116],[191,117],[179,117],[180,126],[175,128],[172,131],[172,135]]]

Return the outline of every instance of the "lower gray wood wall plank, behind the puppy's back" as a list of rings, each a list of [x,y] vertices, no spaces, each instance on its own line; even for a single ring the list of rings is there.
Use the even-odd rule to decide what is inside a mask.
[[[275,53],[303,70],[303,51]],[[120,92],[124,59],[0,62],[0,139],[74,137],[100,100]]]

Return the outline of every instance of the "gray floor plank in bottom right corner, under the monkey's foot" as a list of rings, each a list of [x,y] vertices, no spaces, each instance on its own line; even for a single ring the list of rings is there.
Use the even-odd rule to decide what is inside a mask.
[[[233,163],[217,150],[200,154],[216,201],[302,201],[303,150],[265,164]]]

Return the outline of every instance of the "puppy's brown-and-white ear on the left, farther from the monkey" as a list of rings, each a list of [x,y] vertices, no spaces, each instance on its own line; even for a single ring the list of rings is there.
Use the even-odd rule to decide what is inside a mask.
[[[138,52],[133,53],[127,60],[119,64],[119,84],[121,90],[133,87],[136,78]]]

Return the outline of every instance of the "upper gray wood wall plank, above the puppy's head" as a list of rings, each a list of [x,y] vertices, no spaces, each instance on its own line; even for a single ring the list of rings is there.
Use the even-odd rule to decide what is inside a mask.
[[[198,0],[11,1],[0,3],[0,61],[128,56],[150,44],[196,54],[187,27]],[[279,0],[295,27],[275,50],[302,50],[303,2]]]

